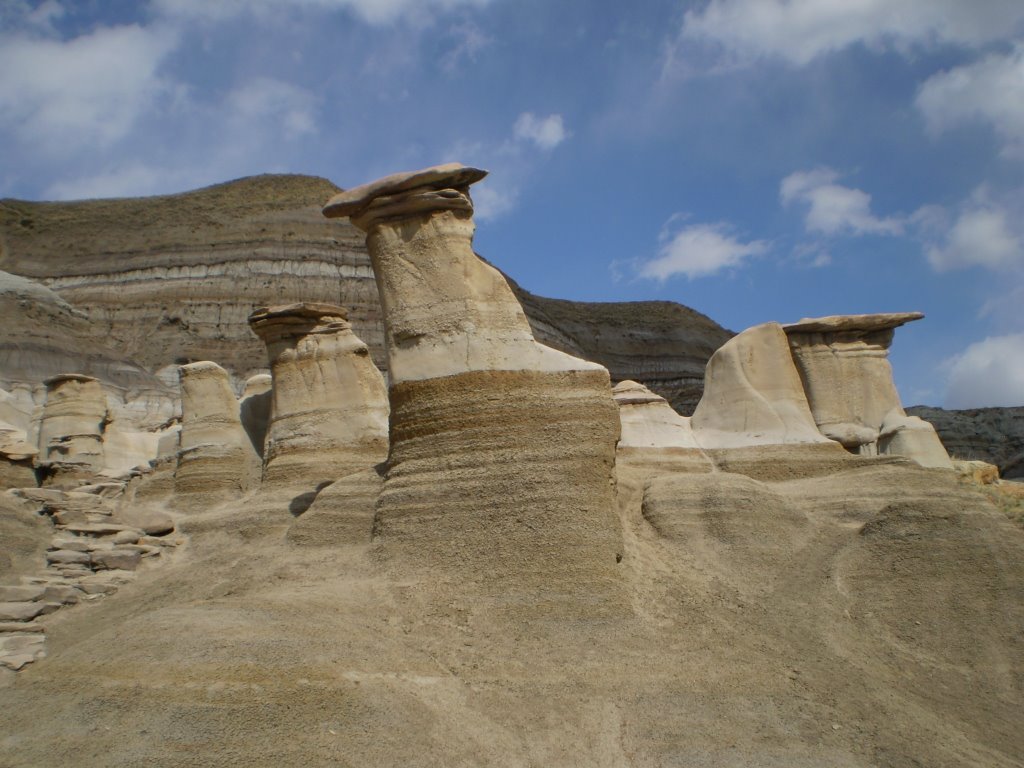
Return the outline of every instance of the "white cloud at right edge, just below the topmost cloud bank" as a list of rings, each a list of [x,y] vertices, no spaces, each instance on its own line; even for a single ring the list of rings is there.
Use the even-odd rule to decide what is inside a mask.
[[[933,75],[915,103],[933,132],[981,121],[992,126],[1008,155],[1024,158],[1024,44]]]

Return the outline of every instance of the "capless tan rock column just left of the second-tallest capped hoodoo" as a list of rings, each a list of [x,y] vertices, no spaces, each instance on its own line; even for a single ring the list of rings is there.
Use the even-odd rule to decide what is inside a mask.
[[[259,479],[259,456],[239,417],[227,372],[216,362],[178,369],[181,435],[177,494],[238,495]]]

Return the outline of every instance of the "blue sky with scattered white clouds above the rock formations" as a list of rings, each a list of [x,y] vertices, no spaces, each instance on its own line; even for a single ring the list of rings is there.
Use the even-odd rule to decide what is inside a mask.
[[[1019,0],[0,0],[0,145],[31,200],[478,165],[535,293],[921,310],[906,404],[1024,404]]]

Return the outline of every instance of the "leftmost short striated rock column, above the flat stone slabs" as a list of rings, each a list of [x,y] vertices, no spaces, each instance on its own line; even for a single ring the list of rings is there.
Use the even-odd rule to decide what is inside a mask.
[[[61,374],[47,379],[39,424],[39,465],[51,478],[87,477],[103,468],[106,395],[97,379]]]

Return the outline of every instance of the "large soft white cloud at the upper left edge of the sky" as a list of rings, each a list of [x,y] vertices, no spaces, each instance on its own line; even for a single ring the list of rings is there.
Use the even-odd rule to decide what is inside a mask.
[[[166,28],[99,28],[68,41],[0,38],[0,126],[49,148],[109,145],[168,91]]]

